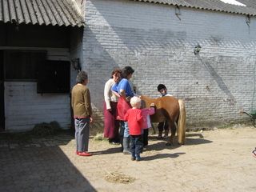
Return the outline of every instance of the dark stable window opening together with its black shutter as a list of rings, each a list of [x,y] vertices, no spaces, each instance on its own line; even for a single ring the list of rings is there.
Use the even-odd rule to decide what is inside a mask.
[[[46,60],[46,51],[5,50],[5,79],[34,81],[37,92],[70,93],[70,62]]]

